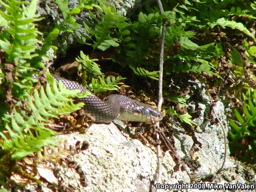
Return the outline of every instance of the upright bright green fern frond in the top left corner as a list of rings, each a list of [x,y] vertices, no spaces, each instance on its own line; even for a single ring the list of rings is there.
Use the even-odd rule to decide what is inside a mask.
[[[36,49],[35,43],[41,43],[36,37],[41,34],[33,22],[42,18],[36,13],[37,0],[31,0],[30,5],[25,7],[25,2],[17,0],[0,0],[6,12],[0,14],[8,23],[9,29],[0,34],[0,48],[4,49],[8,56],[8,62],[26,62],[31,59],[31,54]],[[18,5],[22,5],[20,8]]]

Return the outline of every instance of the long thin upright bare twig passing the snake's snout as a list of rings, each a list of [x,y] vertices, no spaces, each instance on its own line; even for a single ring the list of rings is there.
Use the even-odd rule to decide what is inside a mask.
[[[161,0],[157,0],[158,8],[160,13],[164,12]],[[162,80],[163,80],[163,57],[164,57],[164,44],[165,44],[165,36],[166,36],[166,20],[163,19],[163,26],[162,26],[162,34],[161,34],[161,43],[160,43],[160,56],[159,56],[159,80],[158,80],[158,110],[161,111],[162,108]],[[159,140],[159,122],[156,124],[157,131],[156,131],[156,138]],[[162,183],[162,151],[160,143],[157,144],[157,157],[158,157],[158,177],[157,183]],[[158,189],[156,190],[158,191]]]

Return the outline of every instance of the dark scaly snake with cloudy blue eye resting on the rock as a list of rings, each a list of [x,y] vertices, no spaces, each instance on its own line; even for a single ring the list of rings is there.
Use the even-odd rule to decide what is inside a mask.
[[[68,90],[80,90],[90,92],[77,82],[64,79],[57,75],[52,75],[56,82],[61,81]],[[33,75],[38,79],[38,75]],[[158,122],[162,120],[162,113],[153,106],[139,102],[121,94],[111,94],[104,100],[96,95],[83,98],[74,98],[75,102],[83,102],[83,109],[88,113],[95,123],[110,123],[112,120],[138,121],[138,122]]]

